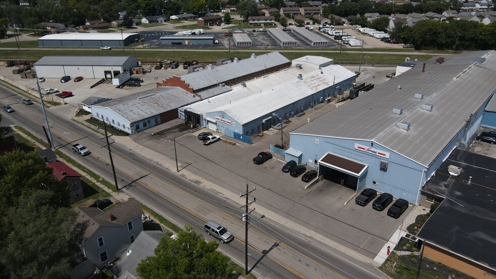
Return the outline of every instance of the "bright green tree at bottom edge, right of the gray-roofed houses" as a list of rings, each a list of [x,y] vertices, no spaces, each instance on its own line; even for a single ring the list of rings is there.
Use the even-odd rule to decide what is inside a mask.
[[[217,251],[219,244],[206,242],[203,235],[186,226],[177,239],[164,235],[155,255],[142,260],[136,271],[143,279],[151,278],[231,278],[229,258]]]

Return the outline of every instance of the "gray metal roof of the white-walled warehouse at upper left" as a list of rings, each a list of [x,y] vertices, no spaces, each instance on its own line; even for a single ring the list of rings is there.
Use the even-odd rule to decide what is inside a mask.
[[[131,56],[43,56],[35,66],[121,66]]]

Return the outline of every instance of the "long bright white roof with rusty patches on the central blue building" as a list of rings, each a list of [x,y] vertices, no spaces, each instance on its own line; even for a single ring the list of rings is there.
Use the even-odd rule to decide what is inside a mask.
[[[215,111],[224,111],[240,124],[245,124],[263,115],[272,113],[277,108],[292,104],[306,96],[332,87],[334,77],[336,78],[335,83],[338,84],[355,76],[354,73],[340,65],[329,65],[323,67],[322,71],[323,74],[318,70],[302,75],[301,80],[297,78],[297,75],[294,75],[288,82],[281,83],[272,88],[266,87],[259,94],[221,106]],[[263,79],[258,79],[257,81],[264,82]],[[264,84],[267,85],[266,83]],[[248,89],[250,87],[251,85],[247,83],[246,88]],[[254,110],[254,108],[257,109]]]

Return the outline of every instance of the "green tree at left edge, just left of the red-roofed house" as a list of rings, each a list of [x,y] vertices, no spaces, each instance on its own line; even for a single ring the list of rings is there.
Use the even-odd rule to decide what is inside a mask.
[[[69,186],[60,183],[45,166],[45,160],[33,152],[20,150],[0,157],[0,216],[19,202],[22,194],[45,189],[53,193],[51,203],[65,206],[69,201]]]

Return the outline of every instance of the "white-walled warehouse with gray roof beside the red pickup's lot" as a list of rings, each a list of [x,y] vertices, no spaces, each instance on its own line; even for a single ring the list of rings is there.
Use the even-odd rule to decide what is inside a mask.
[[[38,77],[88,79],[111,79],[137,65],[136,56],[44,56],[33,64]]]

